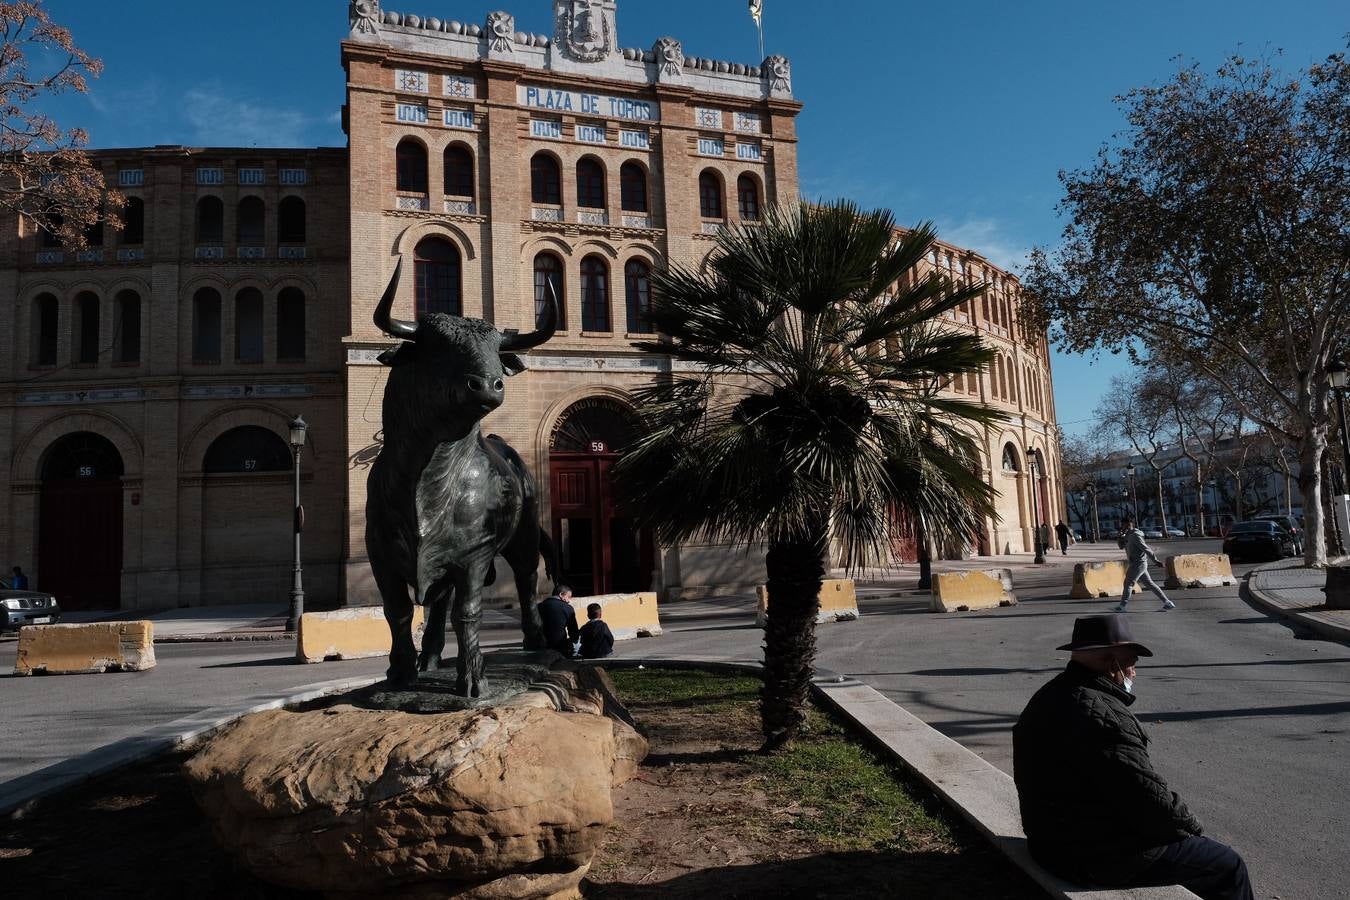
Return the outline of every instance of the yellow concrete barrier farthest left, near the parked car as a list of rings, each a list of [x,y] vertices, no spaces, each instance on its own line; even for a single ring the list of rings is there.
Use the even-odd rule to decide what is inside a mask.
[[[15,675],[143,672],[155,667],[153,622],[26,625],[19,629]]]

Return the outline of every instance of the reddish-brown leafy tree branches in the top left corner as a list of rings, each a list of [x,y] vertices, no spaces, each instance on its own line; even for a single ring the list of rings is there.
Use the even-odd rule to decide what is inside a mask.
[[[0,206],[70,248],[100,219],[120,227],[123,198],[85,152],[89,135],[40,112],[43,97],[88,90],[103,63],[51,22],[42,3],[0,3]]]

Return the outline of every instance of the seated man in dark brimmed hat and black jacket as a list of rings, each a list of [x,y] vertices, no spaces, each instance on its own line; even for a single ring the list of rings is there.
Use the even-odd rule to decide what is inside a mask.
[[[1013,780],[1035,861],[1084,885],[1180,884],[1204,900],[1251,900],[1242,857],[1202,837],[1130,712],[1134,664],[1153,652],[1119,615],[1075,621],[1058,649],[1071,650],[1068,667],[1013,727]]]

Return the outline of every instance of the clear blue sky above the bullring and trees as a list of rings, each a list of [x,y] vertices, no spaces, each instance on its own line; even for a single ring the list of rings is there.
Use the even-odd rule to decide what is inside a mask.
[[[344,146],[338,42],[347,0],[208,5],[181,0],[47,0],[104,61],[89,96],[47,105],[96,147],[161,143]],[[386,9],[551,34],[549,0],[385,0]],[[1017,267],[1053,246],[1057,173],[1091,163],[1122,127],[1112,97],[1165,81],[1176,58],[1212,69],[1231,53],[1282,50],[1301,69],[1345,47],[1345,0],[764,0],[768,53],[792,59],[801,185],[809,197],[891,208]],[[675,35],[684,51],[755,62],[745,0],[620,0],[620,43]],[[1091,430],[1123,363],[1057,355],[1056,402]]]

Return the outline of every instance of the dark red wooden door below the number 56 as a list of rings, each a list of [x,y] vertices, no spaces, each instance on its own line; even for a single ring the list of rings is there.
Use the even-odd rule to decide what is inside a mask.
[[[38,588],[62,610],[115,610],[122,603],[122,480],[42,483]]]

